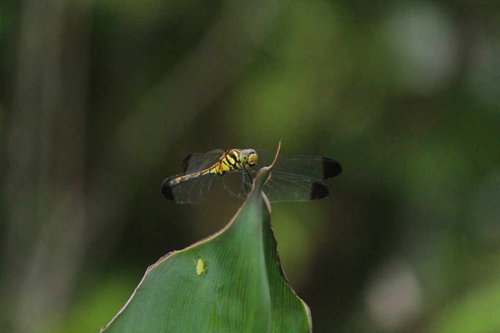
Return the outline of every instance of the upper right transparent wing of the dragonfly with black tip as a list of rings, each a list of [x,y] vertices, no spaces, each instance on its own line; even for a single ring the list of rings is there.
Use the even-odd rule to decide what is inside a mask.
[[[258,168],[271,165],[276,155],[275,152],[266,150],[255,150],[255,152],[258,156]],[[339,175],[342,172],[342,167],[329,157],[280,154],[273,170],[324,180]]]

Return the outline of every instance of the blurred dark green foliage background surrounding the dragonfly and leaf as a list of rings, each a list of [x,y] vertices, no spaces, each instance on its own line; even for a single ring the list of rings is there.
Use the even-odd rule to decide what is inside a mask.
[[[241,200],[159,194],[216,148],[340,162],[272,205],[314,332],[500,331],[497,1],[0,2],[2,332],[97,332]]]

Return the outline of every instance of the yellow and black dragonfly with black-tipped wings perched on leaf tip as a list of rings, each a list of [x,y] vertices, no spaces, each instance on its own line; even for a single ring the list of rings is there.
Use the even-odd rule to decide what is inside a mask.
[[[201,203],[214,191],[222,177],[225,189],[245,199],[259,167],[274,160],[275,153],[257,149],[216,149],[187,154],[182,173],[161,184],[161,195],[177,203]],[[270,202],[308,201],[327,197],[328,187],[321,181],[339,175],[340,164],[329,157],[278,155],[271,177],[263,187]]]

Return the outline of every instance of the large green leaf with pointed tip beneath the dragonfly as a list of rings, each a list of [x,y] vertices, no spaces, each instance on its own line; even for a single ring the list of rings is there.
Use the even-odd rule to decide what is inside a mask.
[[[148,267],[101,331],[310,332],[309,308],[281,269],[270,204],[262,193],[271,167],[259,171],[248,198],[222,230]],[[199,259],[205,269],[200,274]]]

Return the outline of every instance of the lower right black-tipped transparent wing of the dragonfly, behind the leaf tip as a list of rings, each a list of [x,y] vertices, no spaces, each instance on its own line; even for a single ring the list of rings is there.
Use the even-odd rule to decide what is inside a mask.
[[[252,177],[256,172],[250,172]],[[245,183],[251,188],[248,175]],[[224,187],[233,196],[246,198],[246,193],[241,187],[239,172],[228,172],[224,175]],[[299,174],[271,171],[271,178],[263,187],[265,195],[270,202],[309,201],[327,197],[330,194],[328,187],[321,181]]]

